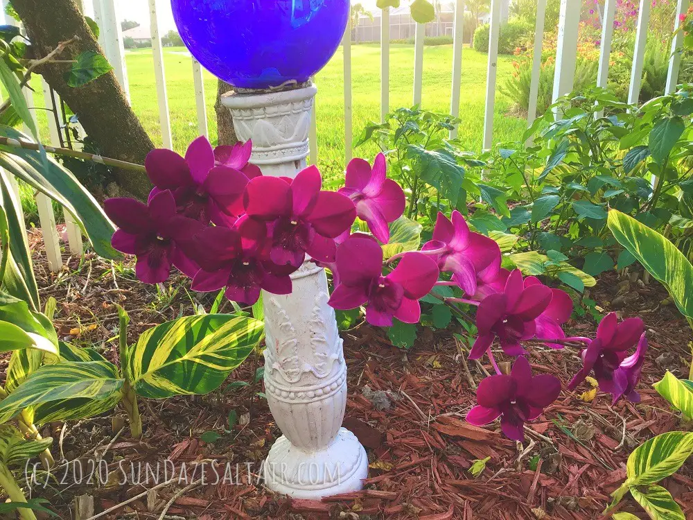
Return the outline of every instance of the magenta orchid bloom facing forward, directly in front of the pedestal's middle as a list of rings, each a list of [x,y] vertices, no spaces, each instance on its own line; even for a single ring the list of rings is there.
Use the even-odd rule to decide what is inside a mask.
[[[280,177],[255,177],[245,190],[245,211],[265,221],[270,259],[279,266],[301,266],[306,252],[318,261],[335,255],[335,236],[356,219],[351,200],[334,191],[321,191],[322,177],[315,166],[299,172],[291,183]]]

